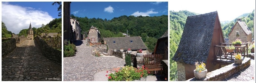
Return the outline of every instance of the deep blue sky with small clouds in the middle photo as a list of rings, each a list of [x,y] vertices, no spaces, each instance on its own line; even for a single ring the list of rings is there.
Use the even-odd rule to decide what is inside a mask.
[[[70,14],[111,20],[126,16],[168,15],[168,2],[71,2]]]

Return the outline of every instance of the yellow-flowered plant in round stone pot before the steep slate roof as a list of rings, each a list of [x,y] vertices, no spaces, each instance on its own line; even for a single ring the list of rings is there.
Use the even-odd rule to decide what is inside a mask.
[[[207,69],[205,69],[205,64],[203,62],[195,63],[196,69],[194,70],[194,75],[197,80],[204,80],[207,75]]]

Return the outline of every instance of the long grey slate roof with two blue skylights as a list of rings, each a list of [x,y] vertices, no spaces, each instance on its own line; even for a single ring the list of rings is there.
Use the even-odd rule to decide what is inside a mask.
[[[136,37],[109,37],[103,38],[104,42],[106,41],[109,49],[124,49],[127,50],[139,50],[139,49],[148,49],[142,39],[139,36]],[[113,43],[116,41],[116,43]],[[132,43],[131,43],[132,41]]]

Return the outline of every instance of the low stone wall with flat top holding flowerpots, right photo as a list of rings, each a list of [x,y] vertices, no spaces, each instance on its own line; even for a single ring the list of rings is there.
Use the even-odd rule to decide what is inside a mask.
[[[247,68],[251,65],[250,58],[244,58],[242,64],[229,64],[225,67],[222,67],[220,69],[214,70],[212,72],[208,72],[207,76],[204,80],[196,80],[195,78],[188,79],[187,81],[221,81],[223,79],[226,79],[233,74],[242,71],[244,68]]]

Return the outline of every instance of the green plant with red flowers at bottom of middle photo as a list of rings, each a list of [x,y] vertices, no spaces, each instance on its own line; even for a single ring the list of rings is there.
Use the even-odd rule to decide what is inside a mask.
[[[121,71],[116,71],[115,73],[110,73],[108,75],[108,81],[133,81],[139,80],[140,78],[145,78],[148,76],[148,72],[144,68],[134,68],[132,66],[125,66]]]

